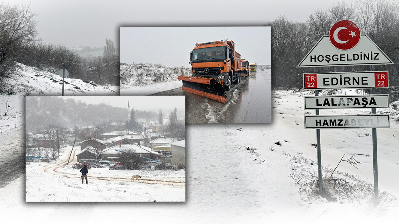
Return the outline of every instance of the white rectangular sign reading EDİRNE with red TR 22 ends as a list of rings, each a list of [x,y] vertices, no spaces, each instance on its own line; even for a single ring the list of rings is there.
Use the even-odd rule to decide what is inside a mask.
[[[304,89],[388,87],[388,71],[303,74]]]

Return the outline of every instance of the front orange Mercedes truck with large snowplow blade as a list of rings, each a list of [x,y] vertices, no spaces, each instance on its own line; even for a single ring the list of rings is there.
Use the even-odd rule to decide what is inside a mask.
[[[192,76],[178,76],[184,91],[224,103],[226,90],[241,81],[241,55],[233,41],[196,43],[190,64]]]

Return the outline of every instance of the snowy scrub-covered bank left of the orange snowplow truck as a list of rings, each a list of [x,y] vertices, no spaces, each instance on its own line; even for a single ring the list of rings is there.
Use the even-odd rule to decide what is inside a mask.
[[[179,75],[191,75],[190,68],[170,68],[152,63],[120,66],[121,95],[149,95],[182,87]]]

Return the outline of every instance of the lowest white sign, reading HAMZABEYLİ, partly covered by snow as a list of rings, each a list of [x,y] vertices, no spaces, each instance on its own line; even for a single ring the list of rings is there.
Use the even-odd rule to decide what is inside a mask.
[[[305,116],[305,129],[389,128],[388,114]]]

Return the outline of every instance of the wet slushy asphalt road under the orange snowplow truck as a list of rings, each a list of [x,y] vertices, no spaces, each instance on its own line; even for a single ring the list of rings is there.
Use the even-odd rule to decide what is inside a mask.
[[[225,104],[183,91],[181,88],[158,92],[158,96],[186,96],[186,123],[270,123],[271,70],[250,72],[234,85]],[[233,102],[230,102],[233,101]]]

